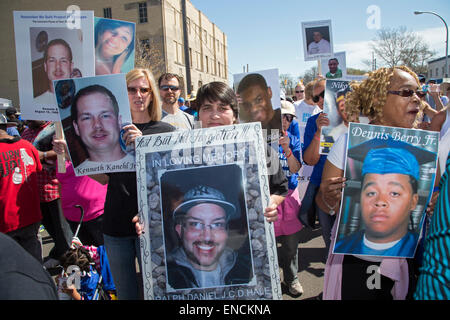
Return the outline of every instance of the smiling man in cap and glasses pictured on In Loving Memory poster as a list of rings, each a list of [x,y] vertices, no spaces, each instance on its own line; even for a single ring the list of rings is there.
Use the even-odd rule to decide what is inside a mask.
[[[180,247],[167,255],[167,282],[172,289],[212,288],[248,283],[250,257],[227,246],[229,222],[240,212],[217,189],[189,190],[173,211]]]

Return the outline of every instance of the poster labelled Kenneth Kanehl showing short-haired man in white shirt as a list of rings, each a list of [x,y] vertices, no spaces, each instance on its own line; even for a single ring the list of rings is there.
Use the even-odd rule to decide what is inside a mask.
[[[54,87],[75,175],[135,171],[134,149],[123,139],[132,123],[125,74],[58,80]]]

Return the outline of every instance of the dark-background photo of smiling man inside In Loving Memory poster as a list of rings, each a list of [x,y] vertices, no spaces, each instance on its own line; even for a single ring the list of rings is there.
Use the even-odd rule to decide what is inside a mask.
[[[187,191],[181,198],[175,197],[177,200],[167,209],[170,216],[169,212],[165,214],[168,291],[242,285],[253,278],[247,218],[245,209],[241,209],[243,194],[238,192],[242,188],[232,182],[234,190],[222,191],[217,182],[208,178],[215,176],[213,172],[233,178],[242,174],[235,165],[169,173],[180,179],[200,176],[204,182],[188,185],[180,181]],[[170,177],[161,180],[163,192],[170,190],[175,195],[174,184],[167,188]],[[170,233],[177,238],[173,244],[169,244]]]

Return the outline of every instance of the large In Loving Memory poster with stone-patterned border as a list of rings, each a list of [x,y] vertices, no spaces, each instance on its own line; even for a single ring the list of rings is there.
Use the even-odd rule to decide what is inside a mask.
[[[143,136],[145,299],[281,299],[261,124]]]

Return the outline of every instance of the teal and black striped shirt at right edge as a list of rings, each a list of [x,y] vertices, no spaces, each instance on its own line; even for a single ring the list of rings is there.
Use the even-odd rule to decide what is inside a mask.
[[[425,238],[425,251],[414,299],[450,299],[450,153],[441,191]]]

